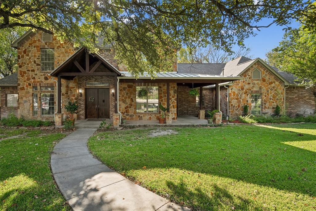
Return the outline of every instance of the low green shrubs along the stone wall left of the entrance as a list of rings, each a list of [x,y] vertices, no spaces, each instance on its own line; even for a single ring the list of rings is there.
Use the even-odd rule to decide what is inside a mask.
[[[42,120],[30,120],[24,119],[24,117],[17,118],[14,113],[10,113],[7,118],[1,118],[0,120],[1,125],[9,126],[9,127],[16,127],[16,126],[23,126],[23,127],[40,127],[40,126],[51,126],[54,125],[52,121],[42,121]]]

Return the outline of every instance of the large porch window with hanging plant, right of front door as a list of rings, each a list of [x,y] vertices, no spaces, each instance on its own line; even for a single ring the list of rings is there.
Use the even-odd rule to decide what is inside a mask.
[[[158,113],[158,86],[136,87],[136,112]]]

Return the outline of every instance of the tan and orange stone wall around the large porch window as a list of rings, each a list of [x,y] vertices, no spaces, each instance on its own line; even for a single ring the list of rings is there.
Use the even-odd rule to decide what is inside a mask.
[[[158,113],[136,113],[136,83],[119,83],[119,112],[127,120],[156,120]],[[144,85],[142,85],[144,86]],[[148,86],[158,86],[159,103],[167,107],[167,84],[155,83]],[[177,84],[169,84],[170,113],[172,118],[177,119]]]

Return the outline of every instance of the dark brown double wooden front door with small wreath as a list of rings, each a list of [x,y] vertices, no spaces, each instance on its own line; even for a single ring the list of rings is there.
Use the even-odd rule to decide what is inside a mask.
[[[86,88],[86,118],[110,118],[110,90],[108,88]]]

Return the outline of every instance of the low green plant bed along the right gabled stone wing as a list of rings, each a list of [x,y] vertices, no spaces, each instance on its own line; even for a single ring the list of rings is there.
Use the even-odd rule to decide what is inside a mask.
[[[241,123],[253,124],[253,123],[298,123],[298,122],[307,122],[307,123],[316,123],[316,116],[307,116],[307,117],[295,117],[291,118],[288,116],[254,116],[246,115],[239,116]]]

